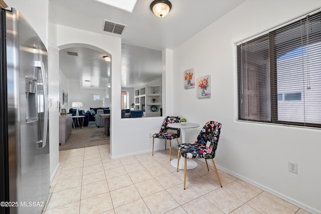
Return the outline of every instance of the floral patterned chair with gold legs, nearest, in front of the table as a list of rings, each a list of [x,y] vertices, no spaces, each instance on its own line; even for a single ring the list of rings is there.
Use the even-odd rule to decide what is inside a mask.
[[[179,171],[180,153],[182,154],[182,157],[185,158],[184,189],[186,187],[187,158],[204,158],[206,162],[207,170],[209,170],[207,159],[211,159],[216,176],[222,187],[221,179],[214,163],[214,157],[216,153],[217,144],[219,142],[221,127],[222,127],[222,124],[219,122],[208,121],[204,125],[197,139],[195,140],[195,143],[182,143],[177,146],[178,148],[177,171]]]

